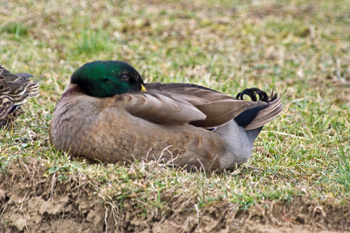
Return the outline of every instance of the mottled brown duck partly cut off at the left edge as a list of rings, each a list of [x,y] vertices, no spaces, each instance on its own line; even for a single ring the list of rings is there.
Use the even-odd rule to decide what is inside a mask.
[[[0,126],[10,123],[15,109],[27,101],[29,97],[38,96],[37,82],[31,82],[33,77],[27,73],[11,73],[0,66]]]

